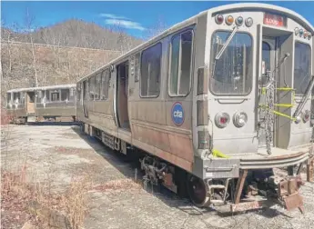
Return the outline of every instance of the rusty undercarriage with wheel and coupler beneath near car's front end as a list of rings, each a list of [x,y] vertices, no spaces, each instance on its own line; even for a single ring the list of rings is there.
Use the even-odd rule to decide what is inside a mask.
[[[267,169],[240,169],[238,178],[201,179],[187,174],[177,177],[175,166],[159,162],[155,157],[145,156],[141,169],[145,171],[144,183],[161,183],[177,193],[186,181],[187,194],[198,207],[215,206],[221,212],[243,212],[273,204],[280,204],[288,211],[299,208],[304,212],[303,199],[299,187],[304,184],[300,176],[304,165],[307,167],[307,181],[313,182],[314,157],[295,166]]]

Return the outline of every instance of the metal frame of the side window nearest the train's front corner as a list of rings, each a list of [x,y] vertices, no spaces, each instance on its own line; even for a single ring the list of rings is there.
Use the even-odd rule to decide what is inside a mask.
[[[186,32],[191,32],[191,34],[192,34],[192,45],[191,45],[192,46],[192,50],[191,50],[191,65],[190,65],[190,76],[189,76],[189,88],[188,88],[187,95],[171,95],[171,93],[170,93],[170,83],[171,83],[170,77],[171,77],[172,42],[177,37],[177,35],[180,35],[180,41],[181,41],[181,35],[186,33]],[[187,28],[185,28],[185,29],[183,29],[181,31],[178,31],[176,34],[171,36],[171,41],[170,41],[170,44],[169,44],[168,69],[167,69],[167,95],[169,97],[171,97],[171,98],[174,98],[174,97],[187,97],[191,93],[191,88],[193,86],[192,84],[193,84],[194,64],[195,64],[194,63],[194,59],[195,58],[193,58],[193,55],[194,55],[194,52],[195,52],[194,40],[195,40],[194,27],[189,27],[189,28],[187,27]],[[180,44],[181,44],[181,42],[180,42]]]

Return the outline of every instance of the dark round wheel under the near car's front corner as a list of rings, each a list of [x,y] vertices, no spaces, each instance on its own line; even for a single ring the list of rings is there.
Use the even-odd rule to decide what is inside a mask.
[[[198,207],[207,207],[210,204],[208,184],[195,175],[187,175],[187,194]]]

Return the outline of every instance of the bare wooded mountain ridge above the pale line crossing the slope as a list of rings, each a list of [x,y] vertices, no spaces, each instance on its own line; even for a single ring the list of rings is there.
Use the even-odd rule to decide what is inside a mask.
[[[23,31],[25,29],[19,28]],[[16,33],[13,29],[2,28],[2,40],[17,41],[44,45],[61,45],[73,47],[85,47],[96,49],[113,49],[125,51],[131,47],[140,45],[143,40],[132,37],[122,29],[106,28],[95,23],[86,23],[82,20],[67,20],[50,27],[36,29],[32,33]]]

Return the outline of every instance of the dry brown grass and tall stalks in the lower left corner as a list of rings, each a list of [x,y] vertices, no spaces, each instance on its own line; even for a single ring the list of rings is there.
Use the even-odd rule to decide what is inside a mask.
[[[5,134],[9,135],[7,128]],[[21,228],[25,222],[36,228],[81,228],[87,214],[86,193],[92,186],[90,175],[76,175],[66,191],[53,191],[54,171],[49,168],[45,179],[38,182],[36,171],[27,164],[27,155],[18,162],[8,159],[7,139],[2,147],[6,153],[2,154],[1,168],[1,228]]]

